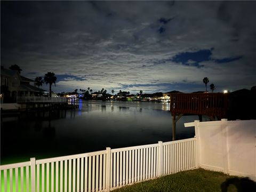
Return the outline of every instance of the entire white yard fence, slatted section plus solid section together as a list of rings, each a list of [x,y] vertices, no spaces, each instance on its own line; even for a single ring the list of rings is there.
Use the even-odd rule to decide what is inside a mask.
[[[109,191],[203,167],[256,180],[256,121],[186,123],[196,137],[2,165],[1,189]],[[241,129],[243,127],[243,129]]]

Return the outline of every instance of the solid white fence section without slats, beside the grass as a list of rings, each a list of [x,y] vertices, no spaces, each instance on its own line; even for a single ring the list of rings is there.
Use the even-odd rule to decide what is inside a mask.
[[[198,166],[256,181],[256,120],[185,123],[195,126]]]

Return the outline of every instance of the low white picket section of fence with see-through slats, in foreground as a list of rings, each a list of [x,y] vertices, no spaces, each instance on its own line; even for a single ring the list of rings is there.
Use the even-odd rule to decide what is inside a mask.
[[[0,166],[1,191],[110,191],[197,167],[196,138]]]

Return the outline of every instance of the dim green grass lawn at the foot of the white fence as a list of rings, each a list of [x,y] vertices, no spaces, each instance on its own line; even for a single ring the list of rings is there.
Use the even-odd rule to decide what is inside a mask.
[[[225,185],[227,183],[225,181],[230,183],[228,187]],[[221,191],[221,184],[222,188],[226,186],[226,189],[223,191],[238,191],[237,188],[240,188],[239,192],[256,191],[256,183],[249,179],[204,169],[183,171],[158,179],[136,183],[113,191]]]

